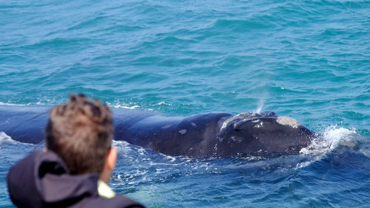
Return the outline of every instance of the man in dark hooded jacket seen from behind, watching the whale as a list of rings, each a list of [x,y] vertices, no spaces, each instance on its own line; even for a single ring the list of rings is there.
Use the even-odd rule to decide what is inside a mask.
[[[117,159],[108,107],[73,95],[49,115],[46,148],[32,152],[7,175],[17,207],[143,208],[107,185]]]

